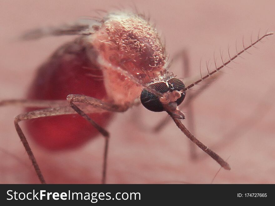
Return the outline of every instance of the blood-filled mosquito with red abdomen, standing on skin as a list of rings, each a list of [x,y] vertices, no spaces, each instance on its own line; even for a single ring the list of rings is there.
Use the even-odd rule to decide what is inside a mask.
[[[16,131],[32,161],[37,177],[46,183],[34,154],[19,123],[27,122],[27,130],[34,140],[51,150],[82,145],[99,133],[105,139],[102,183],[106,183],[109,132],[104,127],[113,113],[125,112],[141,103],[153,112],[167,112],[178,128],[220,166],[230,170],[229,164],[200,142],[184,126],[184,114],[179,109],[187,91],[227,66],[243,52],[263,38],[266,33],[241,51],[215,62],[215,70],[202,75],[190,84],[176,78],[168,69],[168,62],[157,29],[149,19],[137,12],[117,11],[91,22],[78,22],[56,28],[36,29],[21,36],[22,40],[36,40],[46,36],[77,35],[62,45],[43,63],[29,89],[27,99],[4,100],[0,105],[17,104],[26,112],[14,119]],[[66,114],[66,115],[65,115]],[[74,115],[72,115],[74,114]],[[78,114],[76,116],[75,114]],[[45,126],[47,125],[47,127]]]

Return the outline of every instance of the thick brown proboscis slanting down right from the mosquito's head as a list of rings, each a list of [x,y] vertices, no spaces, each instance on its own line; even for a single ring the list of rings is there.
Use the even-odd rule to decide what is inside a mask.
[[[181,123],[180,119],[174,117],[171,112],[167,113],[172,117],[178,128],[192,141],[194,142],[202,151],[206,152],[209,156],[211,156],[220,166],[222,166],[226,170],[231,170],[229,164],[224,161],[220,156],[218,156],[214,151],[210,150],[207,146],[205,146],[201,141],[199,141],[194,135],[192,135],[188,129]]]

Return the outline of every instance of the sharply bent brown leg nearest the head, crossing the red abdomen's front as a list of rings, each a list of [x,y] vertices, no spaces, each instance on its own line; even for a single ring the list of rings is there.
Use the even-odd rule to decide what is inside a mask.
[[[81,115],[84,119],[90,122],[104,137],[105,137],[105,147],[104,147],[104,155],[103,155],[103,170],[102,170],[102,184],[106,183],[106,172],[107,172],[107,157],[108,157],[108,147],[109,147],[109,133],[95,123],[83,110],[81,110],[78,106],[76,106],[73,102],[78,103],[85,103],[88,105],[92,105],[96,108],[101,108],[111,112],[124,112],[128,109],[127,106],[115,105],[104,103],[98,99],[84,96],[84,95],[77,95],[77,94],[70,94],[67,96],[67,100],[70,103],[70,106],[76,111],[79,115]]]

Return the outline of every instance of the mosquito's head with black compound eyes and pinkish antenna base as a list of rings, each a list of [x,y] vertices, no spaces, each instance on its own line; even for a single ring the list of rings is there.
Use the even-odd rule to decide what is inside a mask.
[[[158,97],[146,88],[143,89],[140,100],[145,108],[153,112],[167,111],[175,118],[184,119],[184,115],[177,109],[177,106],[185,98],[185,92],[181,92],[185,88],[182,81],[175,77],[170,77],[166,80],[149,83],[148,87],[162,93],[163,96]]]

